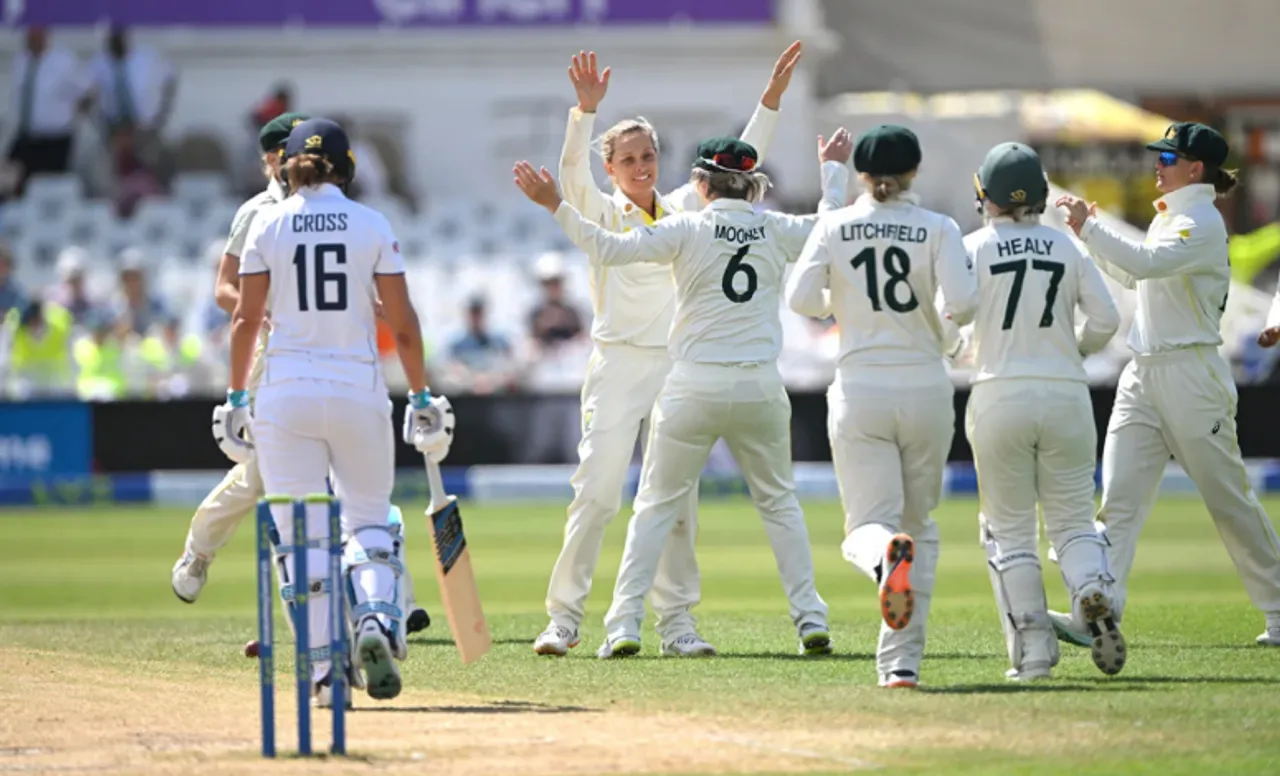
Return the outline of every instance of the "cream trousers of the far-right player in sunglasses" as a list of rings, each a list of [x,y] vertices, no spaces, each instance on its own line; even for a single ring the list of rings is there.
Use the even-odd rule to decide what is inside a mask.
[[[1134,356],[1120,375],[1102,452],[1102,508],[1117,607],[1138,534],[1171,455],[1199,489],[1253,606],[1280,621],[1280,539],[1236,443],[1235,380],[1216,348]]]

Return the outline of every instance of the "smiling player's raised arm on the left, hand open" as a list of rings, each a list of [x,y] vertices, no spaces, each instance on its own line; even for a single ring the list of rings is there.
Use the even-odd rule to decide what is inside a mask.
[[[609,223],[612,200],[595,184],[591,175],[591,132],[595,110],[609,90],[609,68],[596,70],[595,53],[581,51],[568,68],[570,82],[577,93],[577,105],[568,110],[564,147],[561,149],[559,178],[563,196],[570,205],[596,223]]]

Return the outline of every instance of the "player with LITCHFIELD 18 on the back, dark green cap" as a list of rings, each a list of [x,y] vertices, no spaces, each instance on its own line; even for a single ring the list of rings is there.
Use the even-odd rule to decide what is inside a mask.
[[[920,158],[906,127],[858,138],[854,169],[867,191],[814,228],[786,293],[792,310],[833,314],[840,329],[827,416],[845,506],[841,551],[879,588],[876,662],[886,688],[919,683],[938,565],[929,512],[955,433],[943,353],[978,301],[960,227],[909,191]]]

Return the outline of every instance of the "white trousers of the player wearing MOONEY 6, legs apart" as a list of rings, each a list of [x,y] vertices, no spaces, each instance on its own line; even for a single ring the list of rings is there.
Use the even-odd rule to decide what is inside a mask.
[[[814,585],[809,529],[791,475],[791,401],[777,365],[676,361],[654,410],[635,515],[604,618],[609,639],[640,638],[658,556],[721,438],[764,520],[791,620],[826,625],[827,604]]]

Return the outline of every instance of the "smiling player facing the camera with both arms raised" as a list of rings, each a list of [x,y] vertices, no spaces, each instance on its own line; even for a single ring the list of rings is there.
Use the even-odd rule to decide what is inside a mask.
[[[792,44],[773,68],[769,85],[742,140],[765,152],[782,93],[800,60]],[[684,186],[658,195],[658,136],[644,119],[614,124],[600,138],[612,195],[591,175],[590,150],[595,111],[609,87],[609,68],[600,72],[595,53],[580,53],[570,67],[577,106],[570,110],[561,181],[566,201],[588,220],[612,232],[653,224],[672,213],[701,207],[698,192]],[[538,654],[563,656],[580,643],[579,626],[591,590],[604,529],[622,503],[622,488],[636,437],[652,420],[653,405],[671,369],[667,338],[676,289],[666,266],[591,264],[591,338],[595,351],[582,384],[582,439],[573,473],[573,501],[564,526],[564,546],[547,590],[550,624],[534,642]],[[641,437],[644,439],[644,437]],[[641,443],[644,446],[644,442]],[[676,528],[662,553],[650,599],[658,613],[662,654],[714,654],[696,630],[690,610],[701,598],[694,540],[698,493],[678,506]]]

